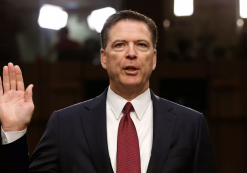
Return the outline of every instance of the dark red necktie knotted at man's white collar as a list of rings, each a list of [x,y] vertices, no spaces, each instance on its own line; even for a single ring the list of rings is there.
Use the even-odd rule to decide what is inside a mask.
[[[118,127],[117,173],[141,173],[139,141],[135,125],[130,118],[133,106],[124,106],[124,115]]]

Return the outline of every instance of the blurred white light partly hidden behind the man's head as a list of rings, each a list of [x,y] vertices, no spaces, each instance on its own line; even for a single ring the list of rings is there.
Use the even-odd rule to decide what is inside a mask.
[[[90,29],[101,32],[106,19],[116,13],[116,10],[112,7],[106,7],[98,10],[94,10],[87,17],[87,23]]]

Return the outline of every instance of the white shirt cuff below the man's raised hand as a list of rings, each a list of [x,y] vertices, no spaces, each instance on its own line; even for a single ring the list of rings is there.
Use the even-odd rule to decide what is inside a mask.
[[[15,132],[5,132],[1,127],[2,145],[6,145],[16,141],[17,139],[20,139],[22,136],[26,134],[26,132],[27,129],[22,131],[15,131]]]

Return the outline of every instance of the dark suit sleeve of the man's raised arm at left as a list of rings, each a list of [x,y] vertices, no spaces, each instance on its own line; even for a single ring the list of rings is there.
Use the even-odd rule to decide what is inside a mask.
[[[58,128],[59,123],[57,120],[57,113],[54,112],[46,126],[46,130],[39,144],[30,158],[30,161],[26,135],[13,143],[0,145],[0,172],[59,172]]]

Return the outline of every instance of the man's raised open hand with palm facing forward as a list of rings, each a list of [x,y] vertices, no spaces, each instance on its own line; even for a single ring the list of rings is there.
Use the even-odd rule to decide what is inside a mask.
[[[3,67],[3,86],[0,78],[0,121],[5,132],[24,130],[34,110],[33,85],[24,88],[19,66],[9,63]]]

